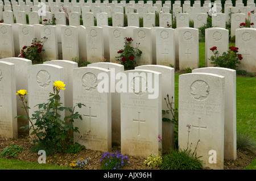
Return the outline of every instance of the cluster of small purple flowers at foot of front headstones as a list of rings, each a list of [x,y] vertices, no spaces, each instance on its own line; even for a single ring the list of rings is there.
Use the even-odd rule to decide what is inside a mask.
[[[128,163],[131,164],[127,155],[123,156],[118,151],[112,154],[105,151],[104,154],[102,154],[100,162],[101,168],[106,170],[116,170],[126,166]]]

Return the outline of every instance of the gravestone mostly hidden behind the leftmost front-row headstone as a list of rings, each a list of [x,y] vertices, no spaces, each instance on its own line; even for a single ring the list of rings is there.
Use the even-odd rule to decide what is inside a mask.
[[[15,82],[16,91],[17,90],[27,90],[28,91],[28,66],[32,65],[32,61],[26,58],[2,58],[0,61],[9,62],[15,65]],[[29,95],[26,96],[28,98]],[[27,99],[28,100],[28,99]],[[16,115],[27,116],[26,112],[23,110],[22,102],[19,100],[19,96],[16,96],[17,112]],[[29,111],[29,110],[28,110]],[[28,125],[28,120],[18,117],[18,128]],[[24,133],[23,129],[18,129],[18,133]]]

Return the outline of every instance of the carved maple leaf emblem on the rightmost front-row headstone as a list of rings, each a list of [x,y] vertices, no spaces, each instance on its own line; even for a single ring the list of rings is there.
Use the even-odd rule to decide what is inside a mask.
[[[209,95],[209,86],[204,81],[196,81],[191,86],[191,94],[197,100],[204,100]]]

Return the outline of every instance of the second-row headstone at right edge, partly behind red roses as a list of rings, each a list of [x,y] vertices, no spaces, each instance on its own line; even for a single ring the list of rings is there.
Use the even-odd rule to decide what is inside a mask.
[[[256,29],[239,28],[236,30],[236,47],[243,59],[238,67],[256,73]]]

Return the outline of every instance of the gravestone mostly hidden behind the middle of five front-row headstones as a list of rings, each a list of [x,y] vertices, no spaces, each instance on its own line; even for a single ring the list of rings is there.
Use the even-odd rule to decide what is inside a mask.
[[[110,92],[112,96],[112,143],[121,144],[121,115],[120,115],[120,94],[115,90],[115,85],[118,82],[118,73],[124,70],[123,65],[114,64],[111,62],[99,62],[88,64],[89,67],[98,67],[110,70]]]

